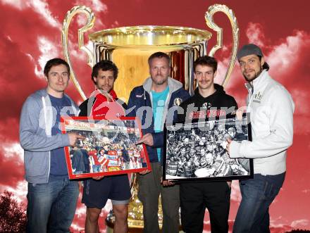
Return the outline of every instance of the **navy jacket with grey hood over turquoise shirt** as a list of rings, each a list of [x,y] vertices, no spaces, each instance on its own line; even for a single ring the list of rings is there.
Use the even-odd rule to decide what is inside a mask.
[[[154,140],[154,146],[147,146],[147,153],[151,163],[158,162],[156,148],[161,148],[161,158],[163,158],[163,132],[154,132],[154,119],[151,97],[151,77],[145,80],[144,84],[135,87],[130,92],[126,115],[129,117],[138,117],[142,124],[142,133],[151,133]],[[163,119],[161,120],[161,130],[166,123],[171,123],[177,118],[178,106],[182,101],[190,98],[185,89],[182,88],[182,83],[168,78],[169,93],[166,99],[165,108],[163,111]]]

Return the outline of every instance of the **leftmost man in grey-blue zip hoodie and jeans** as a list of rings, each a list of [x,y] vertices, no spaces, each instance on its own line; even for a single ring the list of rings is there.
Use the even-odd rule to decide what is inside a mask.
[[[61,115],[77,115],[78,108],[64,94],[70,68],[61,58],[44,67],[46,89],[31,94],[20,115],[20,145],[25,151],[28,182],[27,232],[69,232],[79,188],[70,181],[63,147],[75,146],[79,134],[61,134]]]

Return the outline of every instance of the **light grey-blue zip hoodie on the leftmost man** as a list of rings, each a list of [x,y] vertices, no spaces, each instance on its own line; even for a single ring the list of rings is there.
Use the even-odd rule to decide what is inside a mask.
[[[79,108],[71,102],[66,111],[77,115]],[[64,113],[66,113],[64,111]],[[25,179],[34,184],[49,181],[51,150],[69,146],[68,134],[51,135],[51,127],[56,123],[56,109],[46,89],[31,94],[23,104],[20,115],[20,145],[24,149]]]

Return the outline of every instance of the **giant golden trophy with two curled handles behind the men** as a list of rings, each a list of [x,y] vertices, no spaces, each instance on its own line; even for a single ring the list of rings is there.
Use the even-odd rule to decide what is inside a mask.
[[[73,17],[78,13],[87,16],[87,23],[78,30],[78,46],[87,53],[87,64],[92,68],[95,63],[101,60],[111,60],[119,68],[118,79],[114,89],[120,98],[127,101],[130,91],[141,85],[149,77],[147,59],[156,51],[163,51],[171,57],[171,77],[182,82],[184,88],[193,94],[196,83],[192,72],[192,64],[199,56],[214,53],[223,46],[223,30],[213,22],[213,14],[223,12],[228,16],[233,27],[233,49],[230,56],[230,64],[223,79],[222,85],[228,83],[230,74],[235,65],[237,46],[239,40],[239,28],[233,11],[225,5],[214,4],[206,11],[205,20],[212,30],[217,32],[217,43],[207,53],[208,40],[211,32],[198,30],[190,27],[170,26],[135,26],[118,27],[108,30],[101,30],[89,34],[89,40],[93,44],[93,51],[84,45],[84,33],[94,26],[94,13],[86,6],[75,6],[66,14],[63,20],[61,39],[63,53],[70,65],[71,80],[82,99],[87,99],[85,93],[77,81],[68,51],[68,28]],[[137,177],[132,175],[131,191],[132,198],[129,205],[128,226],[129,232],[139,232],[143,228],[142,203],[137,199]],[[161,208],[159,208],[161,209]],[[161,211],[161,210],[160,210]],[[159,212],[160,212],[159,211]],[[161,225],[162,215],[159,213],[159,224]],[[113,228],[113,214],[109,214],[107,226]]]

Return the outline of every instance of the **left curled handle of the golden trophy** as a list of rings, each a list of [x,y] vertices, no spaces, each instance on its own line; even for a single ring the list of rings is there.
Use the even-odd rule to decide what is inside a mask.
[[[75,6],[70,11],[67,12],[65,19],[63,20],[63,29],[61,30],[61,42],[63,44],[63,54],[65,56],[66,61],[68,62],[71,70],[71,80],[73,81],[73,84],[75,85],[75,88],[82,96],[82,99],[87,99],[84,92],[82,91],[82,88],[80,87],[80,84],[77,82],[75,73],[73,71],[73,66],[70,61],[69,51],[68,51],[68,29],[69,25],[71,23],[71,20],[77,13],[85,13],[87,16],[87,23],[84,27],[80,28],[78,30],[78,43],[79,43],[79,49],[82,51],[85,51],[88,56],[87,65],[89,65],[91,68],[94,66],[94,53],[90,51],[86,46],[84,46],[84,32],[87,32],[94,26],[94,13],[92,10],[86,6]]]

